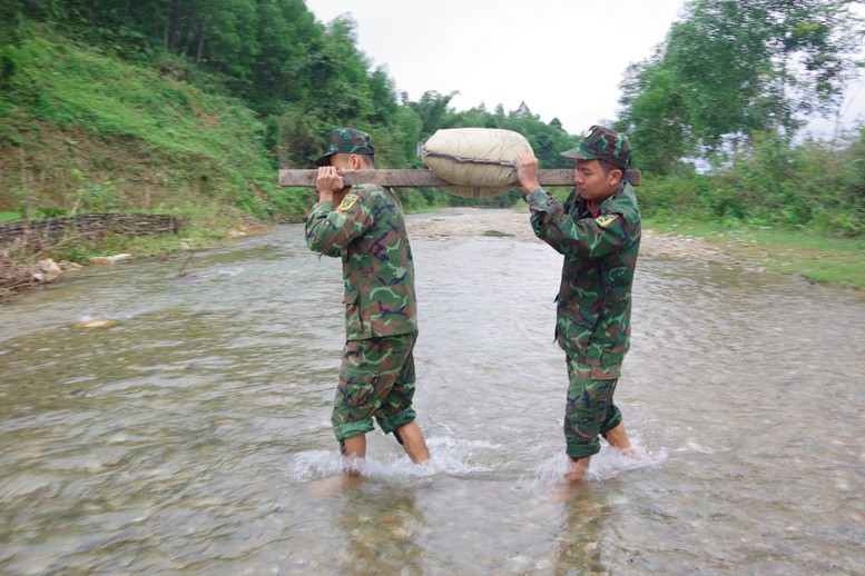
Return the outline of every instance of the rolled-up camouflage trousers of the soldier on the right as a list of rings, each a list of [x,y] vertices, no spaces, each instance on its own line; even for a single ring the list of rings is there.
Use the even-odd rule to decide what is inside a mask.
[[[619,370],[613,374],[618,375]],[[596,370],[597,374],[597,370]],[[592,378],[592,367],[568,358],[568,404],[564,408],[564,439],[572,459],[598,454],[598,435],[621,424],[621,411],[612,403],[618,378]]]

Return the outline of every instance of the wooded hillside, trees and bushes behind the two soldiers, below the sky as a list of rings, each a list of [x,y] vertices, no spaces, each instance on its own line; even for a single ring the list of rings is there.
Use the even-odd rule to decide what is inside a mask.
[[[865,127],[800,137],[858,79],[855,3],[686,2],[621,85],[615,125],[635,145],[645,212],[865,234]],[[318,22],[303,0],[6,0],[0,38],[7,217],[208,220],[230,208],[298,220],[313,195],[281,189],[276,172],[308,168],[336,126],[373,133],[391,168],[421,167],[416,143],[440,128],[519,131],[544,168],[569,167],[559,152],[577,141],[531,102],[458,111],[453,93],[432,90],[410,100],[357,49],[351,17]],[[401,195],[409,210],[469,202]]]

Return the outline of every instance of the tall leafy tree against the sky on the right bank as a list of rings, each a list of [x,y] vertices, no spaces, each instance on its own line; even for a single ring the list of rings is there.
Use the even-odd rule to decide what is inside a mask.
[[[658,53],[622,83],[620,123],[647,125],[667,155],[735,149],[761,131],[790,140],[809,118],[836,110],[855,77],[864,32],[854,3],[689,1]]]

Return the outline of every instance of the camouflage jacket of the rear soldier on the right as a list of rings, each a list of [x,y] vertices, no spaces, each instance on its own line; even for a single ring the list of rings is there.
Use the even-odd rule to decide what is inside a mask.
[[[640,208],[631,185],[594,207],[573,192],[561,202],[543,189],[527,196],[534,234],[564,256],[556,338],[592,378],[618,378],[630,347],[631,286],[640,249]],[[544,219],[545,217],[545,219]]]

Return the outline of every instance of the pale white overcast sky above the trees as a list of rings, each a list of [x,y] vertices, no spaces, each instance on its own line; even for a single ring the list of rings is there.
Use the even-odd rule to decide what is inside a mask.
[[[306,0],[327,23],[355,20],[357,48],[396,89],[459,91],[458,110],[520,102],[570,133],[616,118],[625,70],[665,40],[685,0]],[[611,9],[611,10],[610,10]],[[608,11],[609,10],[609,11]],[[865,81],[845,103],[865,116]],[[828,130],[833,122],[828,122]]]

